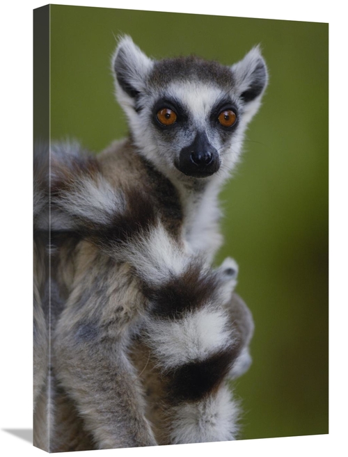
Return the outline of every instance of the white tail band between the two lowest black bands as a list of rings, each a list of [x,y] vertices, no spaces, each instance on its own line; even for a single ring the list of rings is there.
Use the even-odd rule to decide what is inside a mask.
[[[205,360],[232,344],[228,316],[209,303],[176,321],[149,321],[147,333],[164,370]]]

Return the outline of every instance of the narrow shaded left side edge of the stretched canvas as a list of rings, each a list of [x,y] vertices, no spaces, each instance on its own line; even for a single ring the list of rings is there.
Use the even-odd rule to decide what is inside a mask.
[[[49,451],[49,6],[33,11],[33,444]],[[38,166],[40,163],[40,166]],[[38,218],[40,226],[38,230]],[[40,431],[40,433],[39,433]]]

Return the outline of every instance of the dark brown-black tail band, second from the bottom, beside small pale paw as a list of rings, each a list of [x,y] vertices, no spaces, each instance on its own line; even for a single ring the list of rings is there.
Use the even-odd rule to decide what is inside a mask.
[[[214,300],[218,282],[213,272],[203,273],[200,262],[191,263],[180,276],[174,276],[157,289],[144,286],[152,303],[152,313],[159,318],[177,319]]]

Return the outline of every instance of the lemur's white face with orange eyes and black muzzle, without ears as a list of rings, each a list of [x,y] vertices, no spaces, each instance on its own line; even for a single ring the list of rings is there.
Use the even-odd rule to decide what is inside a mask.
[[[173,81],[151,111],[152,141],[181,173],[204,178],[225,165],[239,111],[226,90],[203,81]]]

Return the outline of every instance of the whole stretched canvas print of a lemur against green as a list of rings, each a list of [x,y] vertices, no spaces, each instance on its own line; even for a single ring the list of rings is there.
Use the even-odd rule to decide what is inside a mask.
[[[36,447],[327,433],[327,38],[34,10]]]

